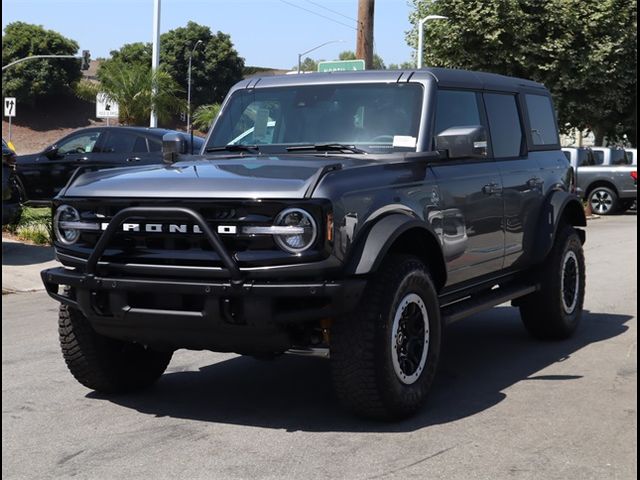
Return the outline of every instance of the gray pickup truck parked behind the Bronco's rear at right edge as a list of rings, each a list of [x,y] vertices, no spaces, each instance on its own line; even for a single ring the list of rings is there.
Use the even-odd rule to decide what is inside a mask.
[[[637,166],[601,163],[620,158],[619,149],[563,148],[576,171],[577,191],[598,215],[611,215],[630,209],[638,197]]]

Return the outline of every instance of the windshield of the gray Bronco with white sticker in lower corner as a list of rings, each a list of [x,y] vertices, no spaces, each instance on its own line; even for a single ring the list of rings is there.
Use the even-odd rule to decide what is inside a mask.
[[[365,152],[415,151],[422,109],[416,84],[335,84],[238,90],[221,112],[207,149],[347,145]]]

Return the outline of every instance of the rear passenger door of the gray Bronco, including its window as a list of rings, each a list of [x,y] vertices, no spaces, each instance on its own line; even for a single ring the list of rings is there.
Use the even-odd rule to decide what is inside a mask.
[[[543,202],[541,167],[530,158],[523,129],[523,116],[514,93],[483,95],[491,139],[491,154],[500,170],[504,200],[504,268],[526,264],[532,251],[534,230]]]

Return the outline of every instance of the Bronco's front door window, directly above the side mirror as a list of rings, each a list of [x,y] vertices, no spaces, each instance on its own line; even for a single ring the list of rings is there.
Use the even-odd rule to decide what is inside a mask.
[[[447,128],[481,125],[475,92],[439,90],[435,135]]]

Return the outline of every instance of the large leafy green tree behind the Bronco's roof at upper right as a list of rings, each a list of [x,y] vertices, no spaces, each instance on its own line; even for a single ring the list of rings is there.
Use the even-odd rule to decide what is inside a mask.
[[[412,0],[407,43],[429,14],[425,65],[529,78],[549,88],[564,128],[636,144],[637,6],[631,0]]]

